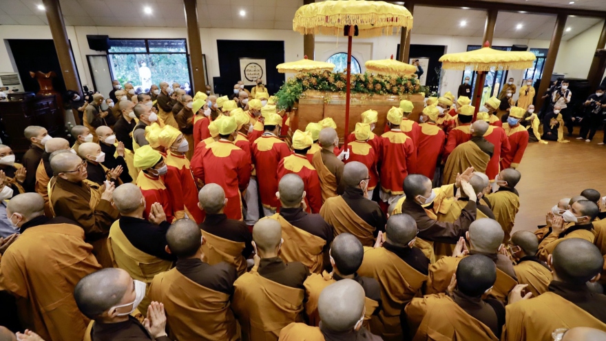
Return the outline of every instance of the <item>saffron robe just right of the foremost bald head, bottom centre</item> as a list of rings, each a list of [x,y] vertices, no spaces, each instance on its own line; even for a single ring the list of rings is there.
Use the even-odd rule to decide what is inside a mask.
[[[400,316],[406,304],[423,287],[427,276],[384,247],[365,247],[364,260],[357,273],[375,278],[381,286],[383,308],[379,316],[370,320],[373,333],[386,341],[403,340]]]

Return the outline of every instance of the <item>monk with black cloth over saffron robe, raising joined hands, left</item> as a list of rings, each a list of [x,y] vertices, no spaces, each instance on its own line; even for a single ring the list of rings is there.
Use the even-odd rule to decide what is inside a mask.
[[[113,199],[121,218],[109,228],[109,256],[114,267],[126,270],[135,280],[145,282],[149,289],[154,276],[169,271],[176,260],[165,251],[166,231],[170,224],[160,203],[151,205],[149,221],[143,218],[145,198],[132,183],[116,188]],[[137,307],[143,316],[147,315],[149,302],[151,300],[145,296]]]

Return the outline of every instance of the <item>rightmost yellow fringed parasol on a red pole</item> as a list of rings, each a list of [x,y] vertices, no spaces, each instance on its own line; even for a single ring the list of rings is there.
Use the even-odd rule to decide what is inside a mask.
[[[482,87],[486,77],[486,72],[492,68],[496,70],[524,70],[532,68],[536,56],[532,52],[512,52],[500,51],[490,48],[490,43],[486,41],[479,50],[449,53],[440,57],[442,68],[447,70],[473,70],[478,72],[478,80],[474,91],[474,112],[473,121],[475,121],[480,98],[482,96]]]

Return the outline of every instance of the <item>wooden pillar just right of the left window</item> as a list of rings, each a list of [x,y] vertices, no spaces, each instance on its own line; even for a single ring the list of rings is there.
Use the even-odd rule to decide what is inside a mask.
[[[187,25],[187,42],[189,43],[189,60],[191,61],[191,93],[206,92],[204,64],[202,63],[202,43],[198,28],[198,7],[196,0],[183,0],[185,6],[185,25]]]

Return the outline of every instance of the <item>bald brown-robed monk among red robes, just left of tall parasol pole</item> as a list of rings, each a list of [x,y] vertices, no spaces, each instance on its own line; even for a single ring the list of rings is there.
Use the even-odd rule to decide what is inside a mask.
[[[320,130],[318,143],[322,149],[313,154],[311,164],[320,178],[322,189],[322,203],[343,193],[342,178],[344,164],[335,156],[334,148],[338,146],[337,131],[331,127]]]

